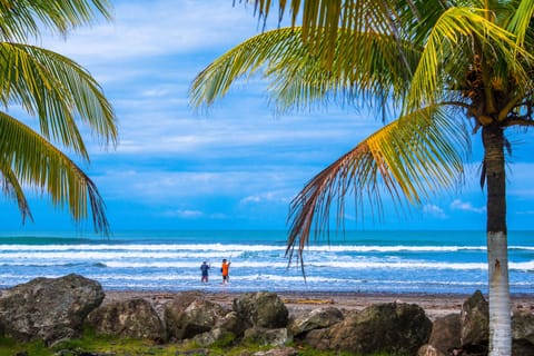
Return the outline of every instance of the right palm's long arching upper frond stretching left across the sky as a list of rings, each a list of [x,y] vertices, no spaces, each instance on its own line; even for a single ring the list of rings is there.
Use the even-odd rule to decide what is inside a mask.
[[[257,72],[270,82],[268,91],[280,110],[304,108],[327,96],[365,106],[389,96],[402,100],[409,78],[404,62],[395,55],[399,42],[379,33],[344,31],[338,37],[352,44],[336,48],[330,70],[318,60],[322,53],[312,52],[301,41],[299,27],[253,37],[220,56],[196,77],[190,88],[191,105],[209,106],[224,97],[233,82]],[[415,69],[419,51],[407,43],[402,46],[405,59]]]

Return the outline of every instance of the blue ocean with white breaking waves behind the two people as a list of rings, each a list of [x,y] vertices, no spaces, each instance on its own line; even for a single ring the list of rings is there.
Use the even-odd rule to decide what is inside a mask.
[[[0,288],[75,273],[107,290],[487,293],[484,231],[345,231],[312,240],[306,278],[297,259],[283,230],[0,233]],[[511,293],[534,295],[534,231],[508,233],[508,260]]]

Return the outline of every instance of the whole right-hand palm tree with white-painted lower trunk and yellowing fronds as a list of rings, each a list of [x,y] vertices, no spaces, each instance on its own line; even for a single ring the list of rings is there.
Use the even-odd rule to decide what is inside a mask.
[[[257,0],[260,18],[271,1]],[[373,107],[392,120],[314,177],[294,198],[287,254],[382,195],[421,204],[463,182],[471,140],[482,136],[487,191],[490,354],[510,355],[505,131],[534,125],[533,0],[279,1],[291,28],[256,36],[195,79],[191,103],[211,105],[238,78],[261,72],[277,108],[322,100]],[[301,26],[297,26],[301,14]],[[386,123],[386,122],[385,122]]]

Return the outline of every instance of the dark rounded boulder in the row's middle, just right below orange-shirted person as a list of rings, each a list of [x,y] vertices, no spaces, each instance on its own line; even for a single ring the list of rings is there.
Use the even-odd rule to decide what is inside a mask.
[[[246,293],[234,299],[233,307],[247,326],[280,328],[288,323],[287,307],[275,293]]]

